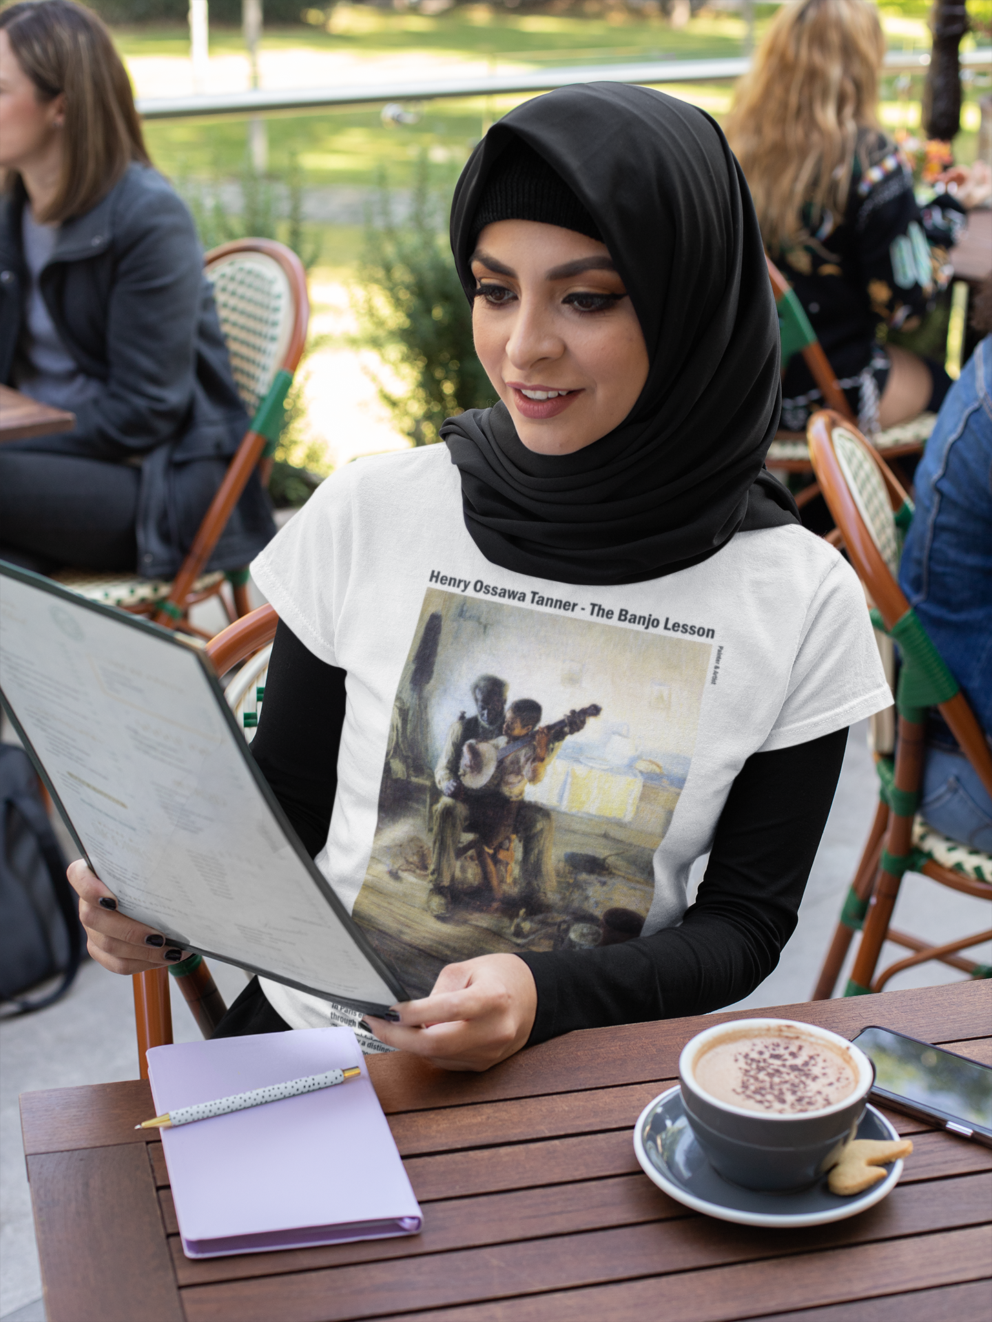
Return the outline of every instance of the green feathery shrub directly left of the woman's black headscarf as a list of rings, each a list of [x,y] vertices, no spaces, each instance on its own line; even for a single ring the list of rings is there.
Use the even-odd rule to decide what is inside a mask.
[[[352,287],[353,342],[374,349],[403,382],[403,391],[393,391],[374,378],[397,430],[414,446],[436,442],[446,418],[496,399],[475,356],[472,312],[451,259],[450,196],[450,177],[433,184],[422,156],[409,214],[398,225],[382,176]]]

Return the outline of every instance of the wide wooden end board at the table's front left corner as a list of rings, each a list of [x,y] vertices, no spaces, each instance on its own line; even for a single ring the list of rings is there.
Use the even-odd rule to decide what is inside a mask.
[[[52,1322],[185,1322],[144,1147],[28,1158]]]

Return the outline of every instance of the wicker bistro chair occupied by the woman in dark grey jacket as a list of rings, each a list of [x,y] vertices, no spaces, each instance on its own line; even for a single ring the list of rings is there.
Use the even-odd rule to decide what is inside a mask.
[[[135,615],[151,615],[157,624],[190,633],[201,631],[189,624],[189,608],[209,596],[220,595],[229,619],[251,609],[247,567],[225,574],[220,570],[205,572],[205,566],[253,469],[261,464],[261,476],[265,483],[269,480],[286,395],[303,354],[310,321],[306,272],[296,254],[282,243],[271,239],[225,243],[206,254],[205,271],[251,427],[227,465],[193,545],[172,580],[77,568],[54,575],[63,587],[90,600]],[[231,584],[234,613],[221,595],[225,580]]]

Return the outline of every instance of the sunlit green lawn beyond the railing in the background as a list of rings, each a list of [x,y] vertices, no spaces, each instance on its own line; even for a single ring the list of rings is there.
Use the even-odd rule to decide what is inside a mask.
[[[972,0],[970,12],[988,21],[992,0]],[[757,5],[758,36],[774,12]],[[898,20],[898,36],[890,42],[919,46],[926,36],[922,22],[929,0],[899,0],[882,7],[882,13]],[[332,32],[323,26],[266,29],[263,49],[345,54],[366,63],[377,57],[422,50],[425,56],[485,59],[499,70],[511,62],[533,65],[599,63],[624,59],[701,59],[737,56],[742,52],[745,24],[731,13],[702,13],[686,28],[675,30],[660,17],[624,16],[556,17],[552,15],[493,13],[488,5],[456,8],[438,17],[390,13],[364,5],[339,5]],[[173,57],[185,59],[189,50],[185,28],[116,29],[115,41],[126,58]],[[987,40],[987,38],[983,38]],[[239,53],[239,30],[212,29],[214,56]],[[977,99],[988,90],[988,78],[967,86],[967,98]],[[922,79],[909,89],[897,89],[895,79],[882,86],[882,100],[918,100]],[[730,85],[686,85],[679,94],[696,100],[718,119],[726,111]],[[306,115],[266,116],[270,171],[286,176],[294,169],[306,186],[347,185],[368,188],[385,172],[393,186],[409,186],[417,160],[429,153],[438,185],[450,186],[483,127],[505,114],[524,98],[484,100],[440,100],[419,108],[417,124],[384,127],[378,108],[320,110]],[[231,178],[246,167],[246,124],[241,119],[149,122],[148,147],[156,164],[179,182],[189,178]],[[975,155],[975,134],[963,134],[959,155]],[[354,225],[320,226],[324,233],[323,260],[335,266],[351,262],[356,251]]]

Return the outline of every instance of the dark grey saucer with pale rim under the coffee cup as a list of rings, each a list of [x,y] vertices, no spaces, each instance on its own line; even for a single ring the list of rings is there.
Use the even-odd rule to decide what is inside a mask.
[[[858,1138],[895,1140],[893,1129],[874,1107],[865,1109],[857,1128]],[[676,1085],[655,1097],[641,1110],[634,1126],[634,1150],[644,1174],[669,1198],[721,1222],[741,1225],[823,1225],[856,1216],[881,1202],[902,1174],[902,1161],[893,1162],[889,1174],[862,1194],[843,1198],[827,1187],[827,1177],[799,1194],[757,1194],[718,1175],[696,1142]]]

